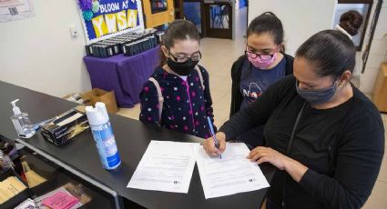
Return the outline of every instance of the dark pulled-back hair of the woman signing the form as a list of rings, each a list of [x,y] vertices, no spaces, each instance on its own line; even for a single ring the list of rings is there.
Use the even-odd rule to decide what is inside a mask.
[[[324,30],[312,35],[300,45],[296,57],[305,58],[316,67],[317,75],[339,77],[353,71],[356,48],[347,35],[336,30]]]

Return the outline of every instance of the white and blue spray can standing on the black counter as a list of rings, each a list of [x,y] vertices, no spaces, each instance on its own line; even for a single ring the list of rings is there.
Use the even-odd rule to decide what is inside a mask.
[[[97,103],[96,108],[86,107],[88,124],[96,141],[99,158],[102,166],[107,170],[113,170],[121,164],[116,139],[107,114],[107,107],[103,103]]]

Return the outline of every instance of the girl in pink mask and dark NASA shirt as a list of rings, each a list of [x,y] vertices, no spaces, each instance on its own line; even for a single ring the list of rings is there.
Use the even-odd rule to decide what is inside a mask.
[[[231,68],[230,117],[260,99],[270,85],[293,73],[293,57],[282,49],[283,27],[276,15],[266,12],[251,21],[245,55]],[[263,124],[240,134],[238,140],[250,148],[263,145]]]

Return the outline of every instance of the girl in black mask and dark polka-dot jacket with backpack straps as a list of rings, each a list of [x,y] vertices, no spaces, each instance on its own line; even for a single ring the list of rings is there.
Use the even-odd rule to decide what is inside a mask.
[[[160,66],[140,94],[141,122],[209,137],[207,117],[213,123],[214,115],[209,73],[198,65],[200,58],[196,26],[187,20],[172,22],[162,37]]]

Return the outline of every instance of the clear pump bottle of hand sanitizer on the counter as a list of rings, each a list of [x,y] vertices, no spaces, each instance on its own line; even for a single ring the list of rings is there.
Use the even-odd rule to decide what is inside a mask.
[[[15,126],[16,132],[21,138],[31,138],[35,134],[35,130],[32,128],[33,124],[28,118],[28,114],[22,113],[20,108],[16,106],[19,99],[12,101],[11,104],[14,106],[12,111],[14,115],[11,117],[12,123]]]

